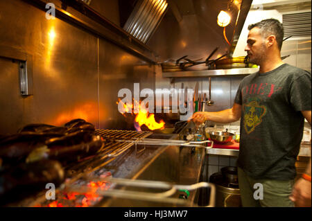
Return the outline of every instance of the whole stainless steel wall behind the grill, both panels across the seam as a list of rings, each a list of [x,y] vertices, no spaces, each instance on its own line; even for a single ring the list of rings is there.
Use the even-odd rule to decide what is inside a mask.
[[[8,60],[8,53],[0,58],[0,134],[28,123],[62,125],[72,118],[96,128],[112,125],[107,121],[118,127],[125,121],[116,107],[119,89],[132,89],[134,82],[155,88],[153,65],[67,22],[48,20],[24,1],[0,1],[0,16],[1,49],[12,48],[15,59],[33,57],[33,96],[27,97],[19,94],[17,62]]]

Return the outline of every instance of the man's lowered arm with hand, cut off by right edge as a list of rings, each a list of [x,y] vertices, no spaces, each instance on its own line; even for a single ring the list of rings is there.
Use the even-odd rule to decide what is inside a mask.
[[[311,125],[311,111],[302,111],[302,115]],[[304,173],[311,177],[311,157]],[[298,179],[293,187],[293,193],[290,199],[295,203],[295,206],[311,207],[311,181],[303,179],[302,177]]]

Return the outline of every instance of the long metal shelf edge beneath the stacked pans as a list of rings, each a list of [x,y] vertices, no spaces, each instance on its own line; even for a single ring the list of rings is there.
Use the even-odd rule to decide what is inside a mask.
[[[244,68],[244,69],[216,69],[216,70],[202,70],[202,71],[176,71],[163,72],[164,78],[196,78],[196,77],[216,77],[216,76],[241,76],[249,75],[259,71],[258,68]]]

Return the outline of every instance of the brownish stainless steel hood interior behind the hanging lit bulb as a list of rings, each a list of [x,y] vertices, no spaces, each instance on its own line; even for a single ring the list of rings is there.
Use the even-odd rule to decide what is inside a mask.
[[[188,55],[192,60],[205,60],[216,48],[211,59],[225,53],[231,57],[241,29],[248,15],[252,0],[167,0],[168,11],[155,33],[147,42],[159,62],[177,60]],[[232,17],[223,28],[217,24],[220,10],[227,10]]]

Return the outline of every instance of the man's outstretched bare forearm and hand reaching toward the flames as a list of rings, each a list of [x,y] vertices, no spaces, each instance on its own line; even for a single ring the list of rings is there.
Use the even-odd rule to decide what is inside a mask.
[[[232,108],[224,109],[220,112],[196,112],[191,117],[191,120],[196,124],[204,123],[205,121],[232,123],[239,121],[239,118],[241,118],[241,105],[234,103]]]

